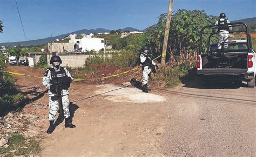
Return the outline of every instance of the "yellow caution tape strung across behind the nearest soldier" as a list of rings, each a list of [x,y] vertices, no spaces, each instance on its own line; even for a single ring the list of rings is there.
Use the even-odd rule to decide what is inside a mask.
[[[161,56],[161,55],[159,55],[157,58],[153,59],[152,61],[158,59],[160,56]],[[120,76],[120,75],[122,75],[122,74],[130,73],[131,71],[136,70],[136,69],[138,69],[139,67],[141,67],[141,66],[135,67],[135,68],[133,68],[133,69],[131,69],[131,70],[128,70],[128,71],[126,71],[126,72],[123,72],[123,73],[114,74],[114,75],[110,75],[110,76],[106,76],[106,77],[100,77],[100,78],[98,78],[98,79],[74,79],[73,81],[102,80],[102,79],[107,79],[107,78],[110,78],[110,77],[117,77],[117,76]],[[43,79],[43,77],[32,76],[32,75],[26,75],[26,74],[22,74],[22,73],[14,73],[14,72],[8,72],[8,71],[2,71],[2,72],[9,73],[9,74],[14,74],[14,75],[29,76],[29,77],[36,77],[36,78]]]

